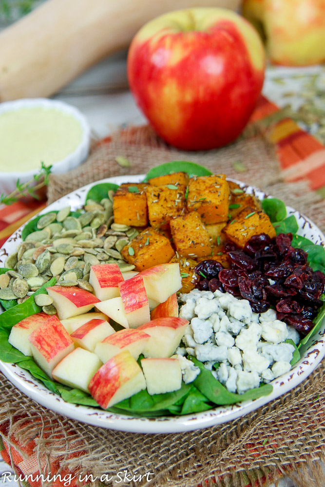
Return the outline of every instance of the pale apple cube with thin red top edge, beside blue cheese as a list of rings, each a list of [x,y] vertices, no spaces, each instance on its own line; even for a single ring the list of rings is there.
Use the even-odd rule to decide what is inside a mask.
[[[149,394],[177,391],[182,385],[182,370],[177,358],[143,358],[143,374]]]

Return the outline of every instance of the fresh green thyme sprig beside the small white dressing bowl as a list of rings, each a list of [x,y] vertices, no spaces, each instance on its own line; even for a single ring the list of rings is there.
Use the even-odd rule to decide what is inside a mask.
[[[51,174],[52,166],[45,166],[43,162],[40,163],[40,171],[34,175],[32,179],[26,183],[20,183],[19,179],[16,183],[16,189],[12,193],[5,195],[4,193],[0,196],[0,204],[11,205],[22,198],[23,196],[32,196],[35,199],[39,199],[36,191],[46,186],[49,182],[49,175]],[[35,182],[39,183],[34,185]],[[33,185],[33,186],[31,186]]]

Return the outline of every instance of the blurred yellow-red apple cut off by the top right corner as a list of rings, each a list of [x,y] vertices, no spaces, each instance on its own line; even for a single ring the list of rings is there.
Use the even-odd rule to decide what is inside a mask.
[[[243,15],[262,32],[272,62],[307,66],[325,61],[324,0],[243,0]]]

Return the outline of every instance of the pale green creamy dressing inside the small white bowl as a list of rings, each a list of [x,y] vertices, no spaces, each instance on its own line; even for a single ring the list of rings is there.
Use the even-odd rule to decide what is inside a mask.
[[[69,113],[44,107],[0,113],[0,172],[56,164],[76,150],[82,128]]]

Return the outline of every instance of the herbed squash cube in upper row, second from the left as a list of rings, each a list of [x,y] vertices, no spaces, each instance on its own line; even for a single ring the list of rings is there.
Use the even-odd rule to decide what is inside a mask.
[[[172,218],[185,213],[185,192],[186,187],[183,185],[146,188],[149,221],[153,228],[166,228]]]

